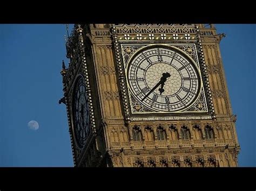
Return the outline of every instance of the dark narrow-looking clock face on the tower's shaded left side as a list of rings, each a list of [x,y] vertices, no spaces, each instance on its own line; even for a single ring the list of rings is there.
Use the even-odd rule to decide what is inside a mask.
[[[75,95],[73,100],[73,111],[74,111],[74,124],[75,124],[75,137],[79,148],[82,148],[85,143],[87,136],[89,135],[89,105],[86,94],[86,87],[82,76],[79,77],[76,87]]]

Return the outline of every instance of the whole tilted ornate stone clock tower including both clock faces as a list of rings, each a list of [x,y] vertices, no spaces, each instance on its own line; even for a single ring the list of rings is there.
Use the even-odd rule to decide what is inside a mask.
[[[219,43],[204,24],[80,24],[64,97],[77,167],[235,167]]]

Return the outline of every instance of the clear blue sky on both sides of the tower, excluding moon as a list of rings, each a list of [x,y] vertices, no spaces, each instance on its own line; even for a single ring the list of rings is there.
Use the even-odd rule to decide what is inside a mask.
[[[255,28],[216,25],[241,146],[239,166],[255,159]],[[73,166],[60,69],[65,25],[0,25],[0,167]],[[39,128],[28,127],[37,121]]]

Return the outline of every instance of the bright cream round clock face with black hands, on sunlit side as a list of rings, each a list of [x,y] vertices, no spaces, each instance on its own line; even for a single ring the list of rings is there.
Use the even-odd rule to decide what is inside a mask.
[[[150,46],[127,65],[132,95],[154,111],[185,110],[199,95],[200,76],[186,55],[170,46]]]

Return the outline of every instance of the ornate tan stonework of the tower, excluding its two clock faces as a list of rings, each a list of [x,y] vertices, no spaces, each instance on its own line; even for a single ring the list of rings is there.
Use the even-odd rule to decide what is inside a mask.
[[[236,116],[219,48],[224,36],[213,25],[203,24],[75,25],[66,44],[70,63],[61,72],[75,166],[238,166]],[[125,53],[123,45],[136,51],[147,44],[176,46],[198,63],[202,98],[186,113],[131,112],[124,71],[130,51]],[[86,81],[91,119],[91,133],[82,149],[76,145],[72,119],[72,91],[78,75]]]

